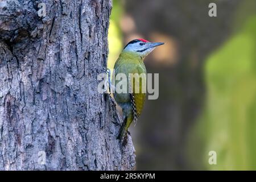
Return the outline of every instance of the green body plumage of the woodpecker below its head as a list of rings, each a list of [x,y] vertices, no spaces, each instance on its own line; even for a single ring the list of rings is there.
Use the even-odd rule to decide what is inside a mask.
[[[133,52],[123,51],[119,55],[118,60],[114,65],[114,75],[117,76],[118,73],[124,73],[127,78],[129,78],[129,73],[144,73],[144,80],[146,81],[146,67],[143,63],[141,56]],[[112,81],[113,82],[113,81]],[[119,81],[115,80],[115,86]],[[146,83],[145,83],[146,84]],[[135,93],[135,85],[139,85],[139,92]],[[142,113],[144,101],[146,98],[146,93],[142,92],[142,79],[134,79],[131,82],[127,81],[127,88],[133,88],[133,93],[114,93],[114,99],[123,110],[123,124],[119,130],[118,139],[122,139],[123,135],[127,133],[127,130],[135,117],[139,117]],[[145,86],[146,89],[146,86]],[[128,91],[128,90],[127,90]]]

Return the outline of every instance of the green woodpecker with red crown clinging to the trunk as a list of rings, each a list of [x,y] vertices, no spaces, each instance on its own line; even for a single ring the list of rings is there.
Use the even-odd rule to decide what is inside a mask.
[[[155,49],[164,43],[151,43],[144,39],[135,39],[129,42],[122,53],[119,55],[114,65],[114,76],[117,77],[118,73],[124,73],[127,78],[130,74],[144,73],[146,76],[146,67],[143,63],[144,58]],[[114,77],[113,77],[114,78]],[[133,80],[133,79],[132,79]],[[146,80],[146,78],[145,78]],[[141,115],[144,101],[146,99],[146,92],[142,92],[142,81],[139,81],[139,93],[134,92],[136,80],[127,81],[127,88],[132,88],[132,92],[117,93],[114,92],[114,99],[123,111],[123,123],[119,129],[117,139],[122,139],[126,136],[131,123],[137,121],[137,117]],[[115,86],[119,81],[115,80]],[[132,85],[132,86],[131,86]]]

